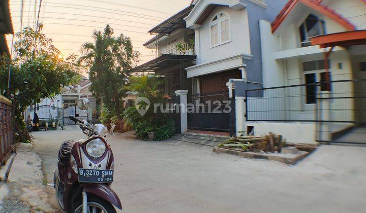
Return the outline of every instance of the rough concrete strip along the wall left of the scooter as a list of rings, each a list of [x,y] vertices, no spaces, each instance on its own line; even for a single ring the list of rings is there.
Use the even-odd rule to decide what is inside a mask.
[[[19,144],[8,182],[0,186],[0,212],[54,212],[32,144]]]

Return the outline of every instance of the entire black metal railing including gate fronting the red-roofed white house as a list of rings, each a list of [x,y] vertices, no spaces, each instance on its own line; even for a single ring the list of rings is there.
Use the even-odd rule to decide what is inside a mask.
[[[366,144],[366,80],[246,91],[246,120],[316,122],[317,140]]]

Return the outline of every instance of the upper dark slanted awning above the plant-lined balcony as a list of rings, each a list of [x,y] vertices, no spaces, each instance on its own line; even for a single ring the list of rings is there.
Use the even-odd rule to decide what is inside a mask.
[[[160,23],[158,26],[154,27],[150,31],[148,31],[150,34],[170,34],[176,29],[179,28],[186,28],[186,21],[183,20],[184,17],[188,16],[188,14],[192,11],[193,5],[190,5],[189,7],[179,11],[172,17],[168,18],[167,20]]]

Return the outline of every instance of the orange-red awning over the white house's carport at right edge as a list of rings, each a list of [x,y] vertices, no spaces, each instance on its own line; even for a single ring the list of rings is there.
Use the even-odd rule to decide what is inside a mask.
[[[311,38],[311,45],[320,45],[320,48],[326,47],[348,47],[352,45],[366,44],[366,30],[354,30],[338,32]]]

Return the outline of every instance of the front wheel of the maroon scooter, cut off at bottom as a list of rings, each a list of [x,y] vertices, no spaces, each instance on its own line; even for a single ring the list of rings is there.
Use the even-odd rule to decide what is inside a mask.
[[[116,213],[116,210],[114,209],[113,205],[101,198],[96,197],[88,197],[87,201],[87,210],[88,212],[94,213]],[[78,207],[74,211],[75,213],[81,213],[82,212],[82,203],[78,205]]]

